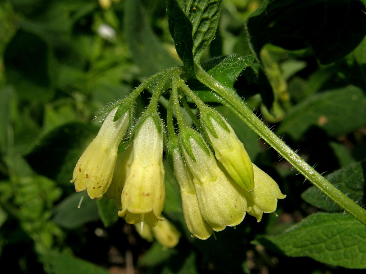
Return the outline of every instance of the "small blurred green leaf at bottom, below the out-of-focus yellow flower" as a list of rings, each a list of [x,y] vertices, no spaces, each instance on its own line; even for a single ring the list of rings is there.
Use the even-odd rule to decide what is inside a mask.
[[[164,261],[168,260],[172,255],[176,254],[177,251],[174,248],[163,248],[161,244],[154,241],[152,246],[138,259],[137,263],[140,266],[153,267],[160,265]]]

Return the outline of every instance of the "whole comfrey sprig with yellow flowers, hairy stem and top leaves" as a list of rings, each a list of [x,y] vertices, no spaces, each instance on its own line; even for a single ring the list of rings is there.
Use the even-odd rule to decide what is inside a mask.
[[[107,115],[104,123],[74,170],[71,182],[76,191],[87,191],[91,199],[101,199],[103,194],[113,198],[118,215],[137,225],[144,238],[151,240],[154,234],[172,247],[178,243],[179,233],[161,216],[165,148],[180,187],[184,220],[193,236],[208,239],[213,231],[239,225],[246,213],[261,221],[263,213],[275,212],[277,200],[286,195],[252,163],[225,117],[207,104],[215,102],[227,106],[328,197],[365,223],[363,209],[296,155],[236,94],[233,83],[243,69],[258,61],[255,54],[200,63],[203,50],[214,37],[221,2],[167,4],[169,30],[183,66],[151,76],[101,112]],[[194,88],[192,81],[197,80],[205,88]],[[133,123],[135,100],[145,89],[152,92],[150,103]],[[164,104],[166,117],[157,111],[163,94],[169,97],[169,103]],[[190,119],[184,118],[182,109]],[[194,114],[196,109],[198,115]],[[127,130],[126,149],[117,159]]]

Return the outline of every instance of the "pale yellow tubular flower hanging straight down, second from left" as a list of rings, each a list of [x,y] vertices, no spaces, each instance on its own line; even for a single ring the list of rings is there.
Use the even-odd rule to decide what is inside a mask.
[[[163,220],[160,213],[165,201],[163,168],[163,131],[151,116],[137,129],[133,141],[133,161],[122,191],[122,210],[126,222],[145,221],[154,227]]]

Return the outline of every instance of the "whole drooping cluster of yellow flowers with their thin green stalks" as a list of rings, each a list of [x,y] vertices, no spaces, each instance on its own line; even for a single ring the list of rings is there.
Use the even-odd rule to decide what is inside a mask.
[[[167,122],[157,113],[167,90]],[[268,174],[254,165],[225,118],[203,103],[179,77],[162,77],[150,104],[133,123],[134,102],[144,87],[109,108],[97,137],[76,164],[71,182],[91,199],[113,198],[118,215],[129,224],[156,227],[163,222],[165,187],[163,151],[180,186],[188,230],[199,239],[235,226],[247,213],[257,218],[274,212],[285,198]],[[199,109],[199,119],[185,98]],[[187,123],[181,108],[193,120]],[[178,122],[178,123],[177,123]],[[165,125],[164,125],[165,124]],[[129,141],[118,157],[118,147],[129,130]],[[127,145],[126,145],[127,144]]]

